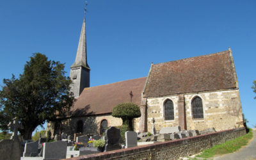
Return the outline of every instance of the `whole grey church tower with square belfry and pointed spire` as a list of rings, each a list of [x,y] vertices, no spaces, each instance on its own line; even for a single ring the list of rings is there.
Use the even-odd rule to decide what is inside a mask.
[[[79,44],[77,47],[76,60],[70,67],[69,77],[73,82],[73,84],[71,84],[71,92],[74,93],[74,97],[79,97],[84,88],[90,87],[90,70],[91,68],[87,63],[86,28],[84,17]]]

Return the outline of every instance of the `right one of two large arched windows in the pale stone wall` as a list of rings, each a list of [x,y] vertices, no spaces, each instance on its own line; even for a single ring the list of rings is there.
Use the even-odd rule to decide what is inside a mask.
[[[192,102],[193,118],[204,118],[203,103],[200,97],[195,97]]]

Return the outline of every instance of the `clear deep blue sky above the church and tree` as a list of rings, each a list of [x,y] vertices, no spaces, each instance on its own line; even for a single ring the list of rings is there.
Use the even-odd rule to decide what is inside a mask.
[[[0,84],[19,77],[33,52],[65,63],[76,58],[84,0],[0,1]],[[91,86],[145,77],[150,63],[231,47],[243,113],[256,124],[256,1],[88,0]]]

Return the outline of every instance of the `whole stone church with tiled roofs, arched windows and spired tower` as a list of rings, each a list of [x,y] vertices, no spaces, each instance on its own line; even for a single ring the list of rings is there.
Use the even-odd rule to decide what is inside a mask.
[[[76,60],[70,67],[74,106],[61,120],[62,132],[102,134],[108,126],[122,125],[111,116],[116,104],[133,102],[141,117],[134,131],[156,131],[179,125],[199,131],[243,127],[242,108],[232,51],[216,52],[177,61],[151,64],[147,77],[90,87],[86,52],[86,24],[83,21]],[[60,123],[47,124],[58,134]]]

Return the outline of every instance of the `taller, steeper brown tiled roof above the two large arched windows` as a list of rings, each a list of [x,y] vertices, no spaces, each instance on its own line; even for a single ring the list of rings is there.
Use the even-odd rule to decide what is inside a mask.
[[[236,88],[229,51],[152,65],[144,97]]]

